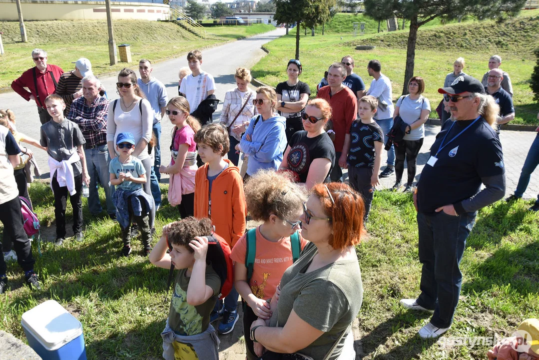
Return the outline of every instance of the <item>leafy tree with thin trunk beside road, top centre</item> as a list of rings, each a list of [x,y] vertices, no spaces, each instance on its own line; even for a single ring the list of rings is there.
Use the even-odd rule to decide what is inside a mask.
[[[335,0],[274,0],[277,23],[296,24],[296,55],[300,58],[300,25],[307,28],[323,24],[330,17],[330,9],[335,6]]]

